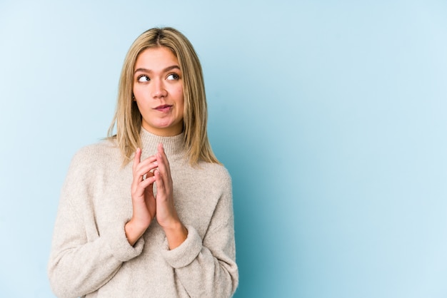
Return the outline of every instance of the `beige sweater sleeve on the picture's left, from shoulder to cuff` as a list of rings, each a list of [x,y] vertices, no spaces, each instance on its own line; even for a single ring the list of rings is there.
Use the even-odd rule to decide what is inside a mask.
[[[111,223],[109,232],[99,235],[91,207],[89,152],[76,153],[61,190],[54,225],[48,274],[58,297],[79,297],[96,291],[109,281],[121,264],[138,256],[141,238],[134,247],[124,232],[126,220]]]

